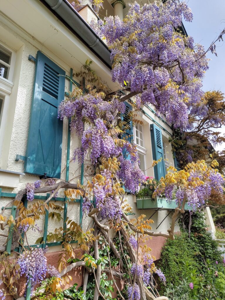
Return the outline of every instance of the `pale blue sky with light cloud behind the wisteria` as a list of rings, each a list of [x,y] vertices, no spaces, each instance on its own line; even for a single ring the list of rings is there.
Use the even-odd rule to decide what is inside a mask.
[[[184,21],[187,34],[208,49],[225,27],[225,0],[186,0],[186,3],[193,12],[193,21]],[[203,79],[203,90],[220,90],[225,94],[225,36],[224,42],[217,42],[216,45],[218,56],[211,52],[207,54],[211,60]],[[219,130],[225,134],[225,127]],[[225,143],[216,147],[218,151],[223,149]]]

